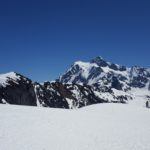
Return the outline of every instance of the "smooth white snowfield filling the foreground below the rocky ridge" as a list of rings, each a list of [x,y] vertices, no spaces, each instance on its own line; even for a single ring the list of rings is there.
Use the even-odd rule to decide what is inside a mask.
[[[0,150],[150,150],[150,109],[0,105]]]

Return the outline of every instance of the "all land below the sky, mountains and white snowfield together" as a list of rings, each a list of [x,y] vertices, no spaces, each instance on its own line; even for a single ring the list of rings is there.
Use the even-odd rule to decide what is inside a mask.
[[[149,150],[149,99],[149,68],[101,57],[53,82],[1,74],[0,150]]]

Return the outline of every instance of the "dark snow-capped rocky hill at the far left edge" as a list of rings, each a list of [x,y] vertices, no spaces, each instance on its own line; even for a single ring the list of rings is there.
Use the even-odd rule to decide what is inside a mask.
[[[3,75],[5,83],[0,84],[0,103],[36,106],[36,97],[32,81],[11,72]]]

